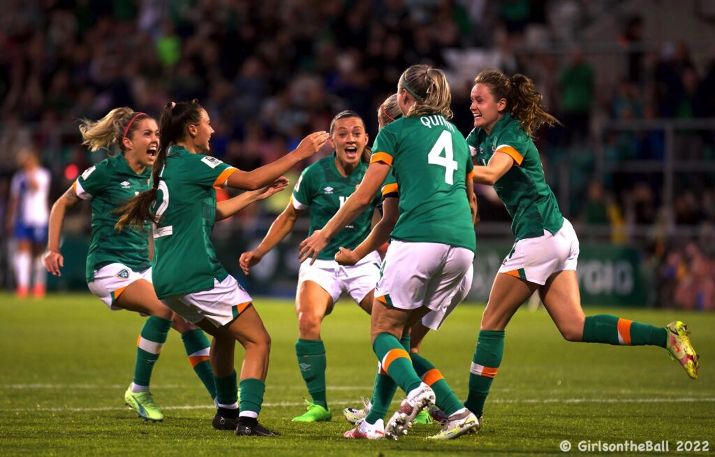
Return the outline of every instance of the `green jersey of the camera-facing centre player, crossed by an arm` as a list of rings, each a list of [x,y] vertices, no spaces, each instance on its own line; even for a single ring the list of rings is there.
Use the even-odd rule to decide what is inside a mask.
[[[303,170],[295,183],[291,196],[293,207],[297,210],[310,208],[310,227],[308,236],[315,230],[322,229],[327,221],[345,204],[347,197],[355,192],[368,171],[368,164],[360,161],[357,167],[344,177],[335,167],[335,154],[323,157]],[[335,253],[342,247],[355,249],[372,229],[373,212],[380,204],[380,193],[375,195],[363,214],[352,224],[345,226],[330,240],[324,250],[318,254],[320,260],[333,260]]]

